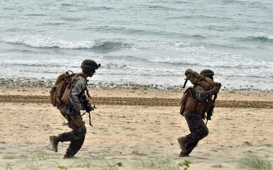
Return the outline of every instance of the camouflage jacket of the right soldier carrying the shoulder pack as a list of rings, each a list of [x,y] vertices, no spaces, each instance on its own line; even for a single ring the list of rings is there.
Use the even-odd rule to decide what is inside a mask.
[[[196,98],[199,101],[206,101],[208,98],[212,97],[212,91],[202,91],[201,89],[195,87],[193,92],[192,92],[193,98]],[[196,110],[194,112],[189,112],[186,109],[184,110],[183,115],[204,115],[202,110]]]

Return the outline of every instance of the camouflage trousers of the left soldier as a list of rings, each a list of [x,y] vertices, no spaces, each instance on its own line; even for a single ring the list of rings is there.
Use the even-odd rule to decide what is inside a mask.
[[[64,107],[60,107],[59,110],[60,110],[61,114],[64,117],[65,116],[68,116],[68,117],[70,116],[69,114],[67,114]],[[75,115],[74,118],[76,120],[81,119],[80,113]],[[83,144],[84,139],[85,139],[85,134],[86,134],[86,127],[85,127],[85,125],[81,125],[78,128],[76,128],[76,130],[71,130],[69,132],[60,133],[59,134],[59,140],[61,142],[70,141],[70,144],[69,144],[66,152],[75,155],[80,150],[80,148],[82,147],[82,144]]]

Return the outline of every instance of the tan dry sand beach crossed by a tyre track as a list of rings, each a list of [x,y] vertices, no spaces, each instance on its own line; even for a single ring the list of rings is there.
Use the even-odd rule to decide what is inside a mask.
[[[178,157],[176,139],[189,133],[184,117],[179,115],[177,102],[181,93],[91,92],[92,103],[99,107],[91,114],[94,127],[88,125],[88,116],[84,116],[87,134],[82,149],[75,159],[63,160],[69,142],[59,143],[55,153],[49,135],[70,129],[62,126],[63,118],[48,103],[46,91],[49,90],[0,92],[0,169],[6,169],[7,163],[14,165],[13,169],[60,169],[59,165],[87,169],[75,168],[75,163],[85,158],[101,163],[96,157],[104,154],[122,162],[124,167],[119,169],[140,169],[133,166],[137,158],[168,155],[176,163],[185,159]],[[229,162],[251,154],[272,162],[272,105],[272,93],[220,92],[218,107],[208,122],[209,135],[186,157],[192,162],[189,169],[248,169]],[[43,154],[48,156],[46,160],[39,157]]]

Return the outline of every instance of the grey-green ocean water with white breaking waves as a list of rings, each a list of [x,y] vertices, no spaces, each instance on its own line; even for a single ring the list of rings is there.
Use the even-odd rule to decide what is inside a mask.
[[[92,81],[180,85],[190,68],[273,88],[272,0],[1,0],[0,18],[4,78],[56,78],[93,59]]]

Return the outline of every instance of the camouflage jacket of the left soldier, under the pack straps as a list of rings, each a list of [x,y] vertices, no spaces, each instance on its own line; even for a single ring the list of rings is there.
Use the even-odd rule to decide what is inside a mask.
[[[76,81],[71,84],[70,92],[68,96],[68,101],[66,104],[66,111],[70,115],[76,115],[82,110],[84,107],[82,100],[82,95],[85,94],[85,90],[87,90],[87,82],[84,77],[77,77]]]

